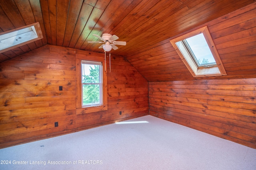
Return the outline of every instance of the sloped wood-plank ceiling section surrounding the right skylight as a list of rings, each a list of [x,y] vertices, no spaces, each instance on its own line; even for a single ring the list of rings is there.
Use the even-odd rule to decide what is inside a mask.
[[[204,6],[206,11],[209,9],[207,7],[209,6]],[[184,14],[186,14],[186,12],[182,13],[182,15]],[[188,16],[193,14],[194,13],[190,13]],[[244,8],[240,8],[239,10],[230,12],[229,14],[201,24],[197,27],[183,31],[180,34],[170,36],[168,39],[166,38],[166,40],[159,42],[158,45],[155,44],[154,47],[149,46],[147,50],[137,50],[138,53],[136,54],[127,53],[125,57],[148,81],[255,78],[255,14],[256,3],[254,2]],[[197,20],[199,20],[199,18],[200,17],[198,16]],[[185,19],[194,23],[190,20],[192,19],[190,17],[184,18],[184,20]],[[181,24],[179,27],[182,27],[184,22],[185,21],[181,20],[181,22],[178,23]],[[163,24],[166,23],[163,22]],[[169,42],[169,40],[204,26],[208,26],[209,28],[227,76],[193,77]],[[159,28],[169,28],[172,30],[174,27],[172,24],[169,24],[168,26],[159,26]],[[157,31],[160,31],[160,29],[157,29]],[[149,32],[148,34],[152,34],[152,32]],[[168,34],[168,32],[165,34]],[[136,39],[137,38],[138,37],[136,37]],[[138,42],[140,41],[138,40]]]

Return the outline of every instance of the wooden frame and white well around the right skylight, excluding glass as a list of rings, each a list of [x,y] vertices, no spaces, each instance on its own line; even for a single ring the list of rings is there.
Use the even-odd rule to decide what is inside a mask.
[[[187,51],[187,53],[183,54],[180,51],[179,47],[176,45],[176,42],[186,40],[187,38],[196,36],[201,33],[204,35],[204,38],[206,39],[206,42],[210,48],[210,51],[212,52],[212,55],[216,61],[216,65],[208,65],[208,66],[199,66],[198,67],[198,65],[196,64],[196,61],[194,61],[194,58],[192,57],[192,55],[190,55],[190,53],[188,51]],[[170,43],[172,44],[174,49],[177,51],[178,55],[180,56],[183,63],[186,65],[186,67],[190,71],[190,73],[193,75],[193,77],[208,77],[208,76],[227,75],[207,26],[197,29],[197,30],[194,30],[188,34],[184,34],[178,38],[174,38],[174,39],[170,40]]]

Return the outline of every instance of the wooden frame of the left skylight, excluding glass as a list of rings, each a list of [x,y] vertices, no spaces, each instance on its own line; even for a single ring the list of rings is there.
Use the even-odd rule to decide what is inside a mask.
[[[22,27],[20,27],[20,28],[15,28],[15,29],[13,29],[13,30],[1,32],[1,33],[0,33],[0,36],[2,36],[2,35],[7,35],[7,34],[10,34],[10,33],[12,33],[12,32],[16,32],[16,31],[18,31],[18,30],[22,30],[22,29],[24,29],[24,28],[30,28],[30,29],[32,30],[32,31],[30,31],[30,32],[33,32],[33,33],[37,36],[37,38],[33,38],[33,39],[28,39],[28,40],[26,40],[26,38],[27,38],[30,34],[28,34],[28,32],[22,33],[22,34],[20,34],[19,36],[25,35],[25,37],[23,37],[23,39],[25,39],[26,41],[23,41],[23,39],[22,39],[22,42],[19,42],[18,40],[21,40],[21,39],[17,38],[17,43],[14,43],[14,45],[12,45],[12,46],[10,46],[10,47],[6,47],[6,48],[4,48],[4,49],[1,49],[1,50],[0,50],[0,53],[3,53],[3,52],[5,52],[5,51],[11,50],[11,49],[14,49],[14,48],[16,48],[16,47],[20,47],[20,46],[22,46],[22,45],[26,45],[26,44],[31,43],[31,42],[35,42],[35,41],[40,40],[40,39],[43,38],[43,34],[42,34],[42,30],[41,30],[41,28],[40,28],[39,22],[36,22],[36,23],[33,23],[33,24],[29,24],[29,25],[26,25],[26,26],[22,26]],[[10,37],[8,37],[8,38],[10,38]]]

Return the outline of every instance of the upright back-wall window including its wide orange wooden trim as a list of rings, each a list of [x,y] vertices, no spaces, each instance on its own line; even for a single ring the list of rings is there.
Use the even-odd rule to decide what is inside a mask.
[[[92,52],[76,53],[76,114],[92,113],[108,109],[107,72],[104,57]]]

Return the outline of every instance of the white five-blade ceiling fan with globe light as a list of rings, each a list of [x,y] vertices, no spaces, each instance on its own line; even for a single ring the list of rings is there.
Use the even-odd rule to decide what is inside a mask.
[[[110,51],[112,48],[116,50],[118,49],[116,45],[126,45],[126,42],[116,41],[118,39],[118,36],[116,35],[112,36],[111,34],[102,34],[102,37],[96,34],[92,34],[92,35],[102,40],[102,42],[89,42],[89,43],[104,43],[99,47],[99,48],[103,48],[104,51]]]

